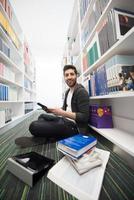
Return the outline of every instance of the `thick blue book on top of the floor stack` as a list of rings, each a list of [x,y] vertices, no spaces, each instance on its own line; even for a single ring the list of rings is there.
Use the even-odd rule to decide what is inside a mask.
[[[78,158],[96,144],[97,139],[95,137],[77,134],[58,141],[57,148]]]

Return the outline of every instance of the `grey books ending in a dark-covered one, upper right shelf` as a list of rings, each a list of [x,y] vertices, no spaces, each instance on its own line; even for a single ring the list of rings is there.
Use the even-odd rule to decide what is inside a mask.
[[[103,55],[134,26],[134,13],[112,9],[98,30],[99,47]]]

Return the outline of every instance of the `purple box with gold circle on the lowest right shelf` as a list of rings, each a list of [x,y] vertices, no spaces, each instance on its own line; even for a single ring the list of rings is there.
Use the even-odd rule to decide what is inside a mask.
[[[89,107],[89,113],[90,125],[96,128],[113,128],[111,106],[93,104]]]

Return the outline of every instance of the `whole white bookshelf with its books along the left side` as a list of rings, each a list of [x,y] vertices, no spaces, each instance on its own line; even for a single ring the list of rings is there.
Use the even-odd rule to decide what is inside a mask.
[[[0,132],[35,110],[33,55],[9,0],[0,1]]]

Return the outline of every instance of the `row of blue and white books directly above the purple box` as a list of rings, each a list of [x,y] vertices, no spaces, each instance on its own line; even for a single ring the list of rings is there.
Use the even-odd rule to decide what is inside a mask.
[[[134,56],[115,55],[90,75],[89,96],[134,91]]]

